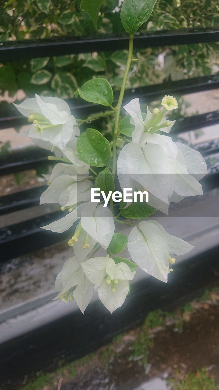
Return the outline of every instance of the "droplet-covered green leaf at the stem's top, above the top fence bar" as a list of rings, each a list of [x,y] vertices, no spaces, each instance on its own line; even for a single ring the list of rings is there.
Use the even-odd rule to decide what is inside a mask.
[[[121,21],[125,31],[135,34],[150,17],[157,0],[125,0],[121,8]]]

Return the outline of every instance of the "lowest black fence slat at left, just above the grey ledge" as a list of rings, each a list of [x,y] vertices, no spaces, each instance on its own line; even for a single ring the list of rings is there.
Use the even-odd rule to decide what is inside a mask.
[[[55,211],[47,215],[0,229],[1,262],[8,261],[25,253],[44,248],[64,239],[70,238],[71,233],[53,233],[41,229],[41,226],[65,216],[65,212]],[[73,229],[76,225],[73,225]]]

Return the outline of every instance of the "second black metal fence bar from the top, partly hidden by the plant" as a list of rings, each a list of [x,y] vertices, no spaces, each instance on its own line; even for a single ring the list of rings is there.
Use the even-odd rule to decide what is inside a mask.
[[[147,85],[146,87],[127,89],[125,91],[124,104],[136,97],[139,97],[142,103],[145,103],[145,101],[149,103],[155,98],[162,97],[164,94],[176,94],[177,96],[182,96],[185,94],[200,92],[202,90],[212,90],[217,88],[219,88],[219,74]],[[114,103],[116,104],[118,101],[118,92],[115,92],[114,96]],[[104,110],[103,106],[88,103],[83,101],[81,98],[78,98],[77,100],[68,99],[67,103],[71,108],[72,114],[76,118],[87,118],[90,113]],[[27,124],[26,118],[21,116],[13,105],[9,105],[8,108],[0,110],[0,129],[22,126],[24,124]]]

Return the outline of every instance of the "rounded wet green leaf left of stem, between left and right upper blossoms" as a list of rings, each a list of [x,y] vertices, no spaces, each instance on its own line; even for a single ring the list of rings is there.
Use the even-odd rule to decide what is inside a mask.
[[[77,151],[82,161],[94,167],[109,164],[111,156],[109,141],[95,129],[87,129],[78,137]]]

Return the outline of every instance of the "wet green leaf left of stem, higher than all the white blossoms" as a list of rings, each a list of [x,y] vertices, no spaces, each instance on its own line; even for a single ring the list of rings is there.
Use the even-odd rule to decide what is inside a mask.
[[[91,103],[102,104],[107,107],[111,107],[113,103],[113,90],[105,78],[95,78],[87,81],[81,89],[75,92],[76,97],[77,94]]]

